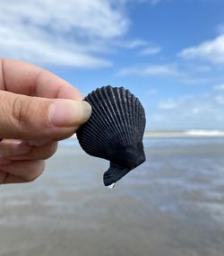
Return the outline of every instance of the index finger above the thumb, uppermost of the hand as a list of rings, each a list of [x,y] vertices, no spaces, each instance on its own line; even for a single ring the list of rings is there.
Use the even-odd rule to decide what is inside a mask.
[[[82,94],[71,84],[39,66],[0,58],[0,90],[38,96],[82,100]]]

